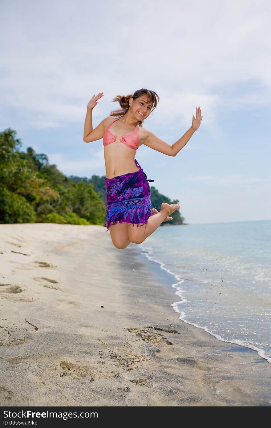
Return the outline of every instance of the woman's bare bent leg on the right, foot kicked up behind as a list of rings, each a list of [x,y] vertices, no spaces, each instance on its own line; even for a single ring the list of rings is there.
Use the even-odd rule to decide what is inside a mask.
[[[164,220],[167,219],[170,214],[179,208],[179,204],[167,204],[166,202],[163,202],[161,205],[161,211],[150,216],[145,226],[133,227],[130,224],[128,227],[128,238],[130,242],[141,244],[158,228],[158,226],[161,225],[161,223],[163,223]]]

